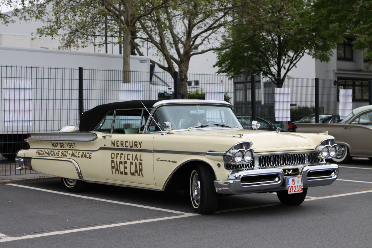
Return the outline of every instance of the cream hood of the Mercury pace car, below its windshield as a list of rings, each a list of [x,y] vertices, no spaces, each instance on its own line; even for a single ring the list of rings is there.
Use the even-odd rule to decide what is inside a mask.
[[[212,147],[219,151],[221,148],[218,146],[224,146],[222,150],[227,151],[232,145],[244,141],[251,141],[255,152],[313,150],[324,139],[333,138],[330,135],[314,133],[278,133],[247,129],[199,129],[175,133],[178,135],[167,136],[173,136],[174,139],[178,136],[178,139],[183,140],[183,145],[190,142],[195,147],[208,147],[209,150],[213,150],[212,144]]]

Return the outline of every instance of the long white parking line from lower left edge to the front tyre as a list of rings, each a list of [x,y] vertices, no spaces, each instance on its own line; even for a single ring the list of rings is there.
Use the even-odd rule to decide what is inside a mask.
[[[20,240],[20,239],[39,238],[39,237],[45,237],[45,236],[51,236],[51,235],[57,235],[57,234],[90,231],[90,230],[96,230],[96,229],[102,229],[102,228],[111,228],[111,227],[117,227],[117,226],[126,226],[126,225],[133,225],[133,224],[139,224],[139,223],[154,222],[154,221],[160,221],[160,220],[178,219],[178,218],[196,216],[196,215],[199,215],[199,214],[197,214],[197,213],[185,213],[183,215],[168,216],[168,217],[157,218],[157,219],[137,220],[137,221],[116,223],[116,224],[110,224],[110,225],[92,226],[92,227],[77,228],[77,229],[71,229],[71,230],[65,230],[65,231],[55,231],[55,232],[32,234],[32,235],[26,235],[26,236],[20,236],[20,237],[5,236],[4,238],[0,239],[0,243],[1,242]]]

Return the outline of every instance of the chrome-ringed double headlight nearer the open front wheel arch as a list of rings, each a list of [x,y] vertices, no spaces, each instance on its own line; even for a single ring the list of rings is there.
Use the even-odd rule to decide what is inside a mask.
[[[251,142],[235,144],[223,155],[224,161],[232,164],[249,164],[254,158],[254,151],[251,147]]]

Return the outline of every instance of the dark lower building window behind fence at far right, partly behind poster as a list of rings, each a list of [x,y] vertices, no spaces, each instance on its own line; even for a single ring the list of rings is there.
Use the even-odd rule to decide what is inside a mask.
[[[339,89],[351,89],[352,90],[352,101],[353,102],[368,102],[368,81],[339,78],[337,80]]]

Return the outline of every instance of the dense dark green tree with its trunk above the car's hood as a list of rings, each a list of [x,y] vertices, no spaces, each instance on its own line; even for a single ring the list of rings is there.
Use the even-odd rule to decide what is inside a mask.
[[[250,1],[250,0],[244,0]],[[263,32],[250,40],[229,49],[217,51],[219,73],[229,75],[260,74],[272,78],[282,87],[285,77],[297,62],[309,54],[320,61],[329,61],[331,49],[343,40],[343,33],[327,25],[312,9],[312,1],[262,0],[264,17]],[[243,23],[234,25],[223,44],[231,44],[246,36],[251,30],[244,20],[244,4],[236,10]]]

